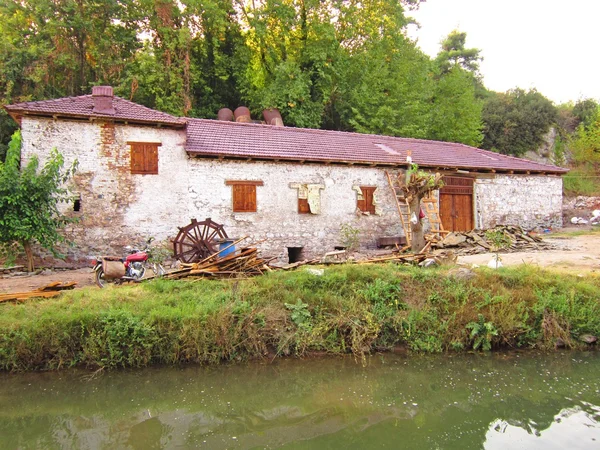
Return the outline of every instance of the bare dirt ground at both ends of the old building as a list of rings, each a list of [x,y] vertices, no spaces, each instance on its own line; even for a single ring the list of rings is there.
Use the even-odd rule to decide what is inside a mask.
[[[556,249],[540,252],[518,252],[501,254],[502,264],[513,266],[532,264],[553,270],[580,273],[600,273],[600,233],[571,235],[573,228],[565,229],[556,235],[544,236]],[[575,230],[579,231],[579,230]],[[485,266],[492,259],[491,253],[461,256],[458,263],[466,267],[474,264]],[[0,294],[30,291],[53,281],[76,281],[77,287],[93,286],[94,273],[91,268],[77,270],[45,270],[38,275],[0,276]]]

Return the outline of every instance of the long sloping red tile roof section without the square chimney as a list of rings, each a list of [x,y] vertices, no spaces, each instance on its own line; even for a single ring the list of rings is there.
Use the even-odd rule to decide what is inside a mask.
[[[464,144],[372,134],[188,119],[186,150],[193,156],[406,165],[407,151],[422,167],[565,173],[550,164]]]

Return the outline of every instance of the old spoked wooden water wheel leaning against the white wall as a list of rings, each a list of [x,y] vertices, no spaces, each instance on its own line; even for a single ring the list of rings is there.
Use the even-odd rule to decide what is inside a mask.
[[[192,219],[189,225],[179,228],[173,241],[173,255],[184,263],[200,261],[219,251],[218,239],[227,238],[223,225],[210,217],[202,222]]]

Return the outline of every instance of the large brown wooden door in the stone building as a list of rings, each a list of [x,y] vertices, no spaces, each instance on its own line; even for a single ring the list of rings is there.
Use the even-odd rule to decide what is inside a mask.
[[[473,229],[473,179],[444,177],[440,189],[440,219],[448,231]]]

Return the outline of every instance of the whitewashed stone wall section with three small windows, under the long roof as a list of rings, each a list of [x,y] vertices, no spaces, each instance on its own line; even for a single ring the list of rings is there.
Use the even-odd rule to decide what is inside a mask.
[[[359,230],[360,244],[375,247],[382,236],[401,236],[396,203],[383,169],[281,162],[190,160],[190,217],[211,217],[223,223],[229,236],[249,236],[261,249],[287,260],[288,247],[303,247],[312,258],[344,245],[340,226]],[[232,187],[226,180],[262,181],[257,186],[257,211],[234,213]],[[321,184],[320,214],[298,213],[297,184]],[[353,186],[377,186],[380,215],[356,210]]]

